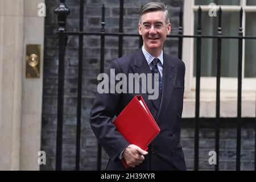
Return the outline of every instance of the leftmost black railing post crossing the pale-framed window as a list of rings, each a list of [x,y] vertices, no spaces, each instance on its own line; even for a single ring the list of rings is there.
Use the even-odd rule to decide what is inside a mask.
[[[202,10],[198,9],[198,27],[197,35],[201,35],[201,14]],[[195,164],[194,170],[199,169],[199,127],[200,127],[200,76],[201,76],[201,37],[196,38],[196,115],[195,115]]]

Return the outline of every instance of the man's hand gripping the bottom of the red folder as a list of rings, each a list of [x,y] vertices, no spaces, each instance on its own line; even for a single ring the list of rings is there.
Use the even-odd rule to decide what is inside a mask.
[[[128,166],[135,167],[143,162],[143,155],[147,154],[147,151],[144,151],[140,147],[135,146],[135,144],[130,144],[125,148],[125,151],[123,151],[123,158],[125,158]]]

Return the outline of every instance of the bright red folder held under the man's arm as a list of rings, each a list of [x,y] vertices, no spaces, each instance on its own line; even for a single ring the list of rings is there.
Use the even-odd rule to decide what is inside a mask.
[[[139,102],[141,101],[142,104]],[[148,144],[159,134],[160,129],[148,110],[142,96],[135,96],[113,122],[117,131],[131,143],[147,150]],[[121,160],[128,168],[125,159]]]

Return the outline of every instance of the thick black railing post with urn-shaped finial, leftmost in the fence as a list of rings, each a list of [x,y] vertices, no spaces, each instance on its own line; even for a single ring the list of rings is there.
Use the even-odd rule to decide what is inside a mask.
[[[58,16],[59,23],[59,74],[58,74],[58,103],[57,103],[57,138],[56,138],[56,170],[61,170],[62,140],[63,140],[63,97],[64,97],[64,55],[65,55],[65,24],[67,15],[70,13],[65,0],[60,0],[54,13]]]

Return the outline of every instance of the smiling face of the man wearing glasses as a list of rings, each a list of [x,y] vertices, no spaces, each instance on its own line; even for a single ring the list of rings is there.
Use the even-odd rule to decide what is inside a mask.
[[[160,26],[161,24],[162,26]],[[155,25],[155,27],[152,25]],[[171,23],[166,24],[163,11],[152,11],[141,16],[139,35],[142,35],[143,45],[147,51],[154,51],[154,49],[162,50],[166,36],[170,32]]]

